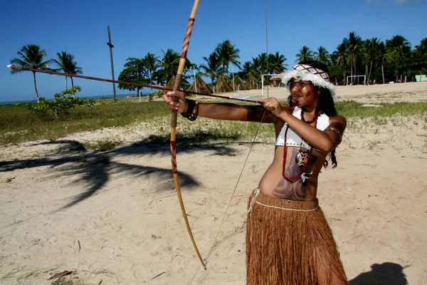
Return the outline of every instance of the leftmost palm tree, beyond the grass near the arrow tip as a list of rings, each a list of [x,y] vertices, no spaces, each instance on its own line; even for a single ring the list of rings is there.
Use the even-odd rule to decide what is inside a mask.
[[[40,49],[40,46],[37,46],[37,45],[23,46],[21,48],[21,51],[18,52],[18,54],[19,56],[21,56],[21,58],[12,59],[11,64],[19,66],[22,69],[17,69],[17,70],[12,69],[11,70],[12,74],[19,73],[28,68],[40,69],[40,70],[49,69],[49,63],[51,63],[51,61],[43,61],[43,58],[47,55],[46,55],[46,51],[44,51],[43,49]],[[34,71],[33,71],[33,78],[34,78],[34,88],[36,89],[37,103],[39,103],[40,101],[38,100],[36,72]]]

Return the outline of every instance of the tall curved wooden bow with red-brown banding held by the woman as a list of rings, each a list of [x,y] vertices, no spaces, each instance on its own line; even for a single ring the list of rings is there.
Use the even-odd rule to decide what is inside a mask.
[[[199,0],[194,1],[193,9],[191,10],[191,15],[189,19],[189,24],[187,24],[186,33],[184,36],[184,43],[182,45],[181,58],[179,60],[178,71],[176,72],[176,78],[174,83],[173,90],[179,90],[181,88],[182,82],[182,73],[184,71],[184,65],[186,61],[186,53],[189,49],[189,43],[191,38],[191,31],[193,31],[194,20],[196,19],[197,9],[199,9]],[[174,97],[174,101],[176,102],[178,99]],[[187,231],[189,232],[191,242],[193,243],[194,250],[196,250],[197,257],[201,264],[204,266],[206,270],[206,264],[204,260],[201,258],[199,248],[194,241],[193,233],[191,232],[191,227],[189,224],[189,219],[186,216],[186,211],[184,207],[184,201],[182,200],[181,188],[179,187],[179,178],[178,178],[178,169],[176,168],[176,117],[178,115],[177,110],[172,110],[172,119],[171,119],[171,160],[172,160],[172,173],[174,175],[174,183],[176,188],[176,195],[178,195],[179,205],[181,206],[182,216],[184,217],[184,221],[186,224]]]

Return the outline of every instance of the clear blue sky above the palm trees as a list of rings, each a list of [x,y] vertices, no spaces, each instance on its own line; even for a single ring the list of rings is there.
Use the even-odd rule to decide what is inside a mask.
[[[147,52],[181,52],[192,0],[6,0],[0,9],[0,101],[36,97],[31,73],[11,75],[6,65],[27,44],[41,46],[48,58],[67,51],[75,56],[83,74],[111,78],[107,26],[112,33],[116,78],[126,58]],[[330,53],[349,32],[363,39],[385,41],[400,34],[418,45],[427,37],[427,0],[268,0],[268,52],[282,53],[289,66],[302,46]],[[218,43],[230,40],[239,48],[240,61],[266,51],[264,0],[201,0],[188,58],[204,63]],[[234,68],[237,71],[237,68]],[[65,78],[37,74],[43,97],[65,89]],[[111,95],[111,83],[75,79],[80,95]],[[117,90],[118,94],[129,93]]]

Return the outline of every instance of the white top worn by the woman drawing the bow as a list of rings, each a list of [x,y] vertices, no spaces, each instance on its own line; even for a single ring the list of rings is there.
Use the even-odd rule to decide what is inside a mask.
[[[295,118],[301,119],[301,108],[295,107],[292,115]],[[329,117],[326,114],[322,114],[319,116],[319,118],[317,118],[317,130],[325,130],[328,125],[330,125]],[[282,130],[280,130],[278,138],[276,139],[276,145],[284,145],[286,127],[288,127],[288,123],[285,123]],[[288,133],[286,134],[286,146],[310,148],[308,143],[290,127]]]

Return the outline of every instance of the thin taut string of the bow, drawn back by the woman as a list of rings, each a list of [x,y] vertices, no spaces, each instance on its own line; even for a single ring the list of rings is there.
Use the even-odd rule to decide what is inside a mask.
[[[268,71],[268,5],[267,5],[267,2],[268,2],[268,0],[264,0],[264,6],[265,6],[265,53],[266,53],[266,66],[267,66],[267,71]],[[262,73],[261,73],[261,76],[263,76]],[[270,86],[270,84],[267,84],[267,98],[269,98],[268,97],[268,90],[269,90],[268,87],[269,86]],[[234,197],[234,194],[236,193],[238,184],[239,184],[239,182],[241,180],[241,177],[243,175],[243,171],[246,168],[246,163],[248,162],[249,155],[251,155],[251,152],[252,152],[252,149],[253,149],[253,145],[255,145],[255,140],[256,140],[256,138],[258,136],[258,133],[259,133],[259,130],[261,128],[261,124],[263,123],[266,111],[267,111],[267,109],[264,109],[263,116],[261,117],[260,123],[258,123],[258,128],[257,128],[257,130],[255,132],[255,136],[253,137],[253,140],[251,142],[251,147],[249,148],[248,155],[246,155],[246,160],[243,163],[243,167],[242,167],[241,173],[238,176],[236,185],[234,186],[233,193],[231,194],[230,201],[227,204],[226,212],[224,213],[223,218],[221,220],[221,224],[219,225],[218,231],[216,232],[215,239],[214,239],[214,242],[213,242],[213,244],[211,246],[211,249],[209,250],[208,257],[206,257],[206,259],[204,259],[206,265],[208,264],[209,257],[211,257],[211,253],[213,252],[214,248],[216,247],[216,240],[218,239],[218,234],[221,231],[221,228],[223,226],[224,220],[226,219],[226,215],[227,215],[228,209],[230,208],[231,201],[233,201],[233,197]]]

